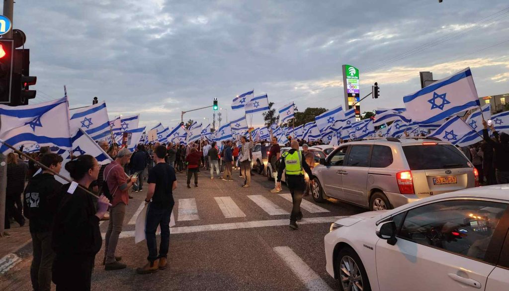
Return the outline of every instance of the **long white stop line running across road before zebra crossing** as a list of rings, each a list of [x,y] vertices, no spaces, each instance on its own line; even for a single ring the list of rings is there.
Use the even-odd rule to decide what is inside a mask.
[[[328,216],[328,217],[313,217],[303,218],[298,224],[315,224],[315,223],[332,223],[338,219],[345,218],[347,216]],[[191,233],[191,232],[202,232],[202,231],[216,231],[216,230],[229,230],[229,229],[240,229],[240,228],[254,228],[254,227],[268,227],[268,226],[282,226],[288,225],[288,219],[275,219],[275,220],[259,220],[259,221],[247,221],[247,222],[234,222],[234,223],[222,223],[222,224],[208,224],[198,226],[180,226],[171,227],[169,231],[172,234],[178,233]],[[120,233],[121,239],[127,239],[134,237],[135,231],[122,231]],[[102,239],[106,236],[106,233],[101,233]]]

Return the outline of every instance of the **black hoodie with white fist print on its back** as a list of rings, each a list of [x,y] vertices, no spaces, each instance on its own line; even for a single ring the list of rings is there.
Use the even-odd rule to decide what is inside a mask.
[[[30,232],[52,229],[53,218],[62,200],[62,184],[47,173],[35,175],[23,194],[23,214],[30,220]]]

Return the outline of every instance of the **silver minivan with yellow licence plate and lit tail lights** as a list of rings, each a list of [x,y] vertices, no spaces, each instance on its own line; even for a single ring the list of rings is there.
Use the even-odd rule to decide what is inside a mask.
[[[336,198],[371,210],[478,186],[477,170],[454,145],[430,138],[341,144],[313,169],[313,199]]]

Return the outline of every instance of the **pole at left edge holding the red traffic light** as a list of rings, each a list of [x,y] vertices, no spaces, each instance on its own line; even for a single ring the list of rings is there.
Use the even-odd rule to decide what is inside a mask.
[[[4,0],[4,16],[11,20],[11,30],[3,38],[12,38],[12,26],[14,15],[14,0]],[[1,124],[0,124],[1,125]],[[7,158],[0,153],[0,237],[5,231],[5,200],[7,191]]]

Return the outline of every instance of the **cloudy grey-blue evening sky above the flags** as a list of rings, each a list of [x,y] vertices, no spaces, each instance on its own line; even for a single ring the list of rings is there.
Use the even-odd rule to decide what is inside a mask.
[[[140,113],[148,126],[172,126],[213,97],[229,108],[253,88],[276,108],[333,108],[343,64],[360,69],[361,95],[380,86],[362,112],[401,107],[419,71],[438,79],[470,66],[479,96],[509,92],[506,0],[18,0],[14,28],[31,49],[34,103],[65,84],[71,108],[98,96],[111,117]],[[204,117],[212,110],[185,115]]]

